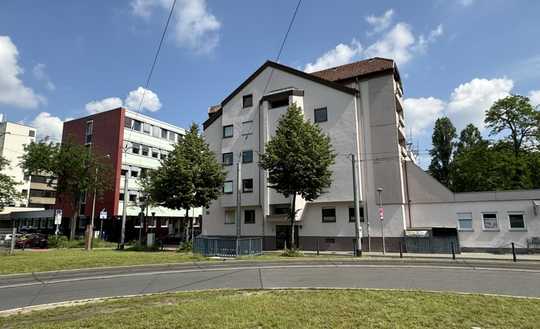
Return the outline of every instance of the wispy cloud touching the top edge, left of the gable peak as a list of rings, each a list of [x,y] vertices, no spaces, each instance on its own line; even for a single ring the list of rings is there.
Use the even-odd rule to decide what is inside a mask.
[[[169,11],[172,0],[132,0],[132,12],[149,18],[154,8]],[[208,11],[206,0],[179,0],[174,12],[177,44],[197,52],[212,51],[219,43],[221,22]]]

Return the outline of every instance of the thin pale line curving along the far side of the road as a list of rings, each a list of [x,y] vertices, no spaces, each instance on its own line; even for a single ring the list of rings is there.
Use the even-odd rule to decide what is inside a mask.
[[[149,275],[162,275],[162,274],[181,274],[181,273],[196,273],[196,272],[213,272],[213,271],[241,271],[241,270],[257,270],[257,269],[289,269],[289,268],[393,268],[393,269],[437,269],[437,270],[466,270],[466,271],[504,271],[504,272],[526,272],[526,273],[540,273],[540,270],[532,269],[511,269],[511,268],[494,268],[494,267],[466,267],[466,266],[433,266],[433,265],[376,265],[376,264],[321,264],[321,265],[262,265],[262,266],[238,266],[238,267],[216,267],[205,269],[184,269],[184,270],[164,270],[154,272],[140,272],[140,273],[124,273],[124,274],[111,274],[111,275],[98,275],[98,276],[86,276],[79,278],[67,278],[56,280],[44,280],[41,282],[27,282],[27,283],[15,283],[0,286],[0,289],[29,287],[37,285],[50,285],[67,282],[80,282],[90,280],[104,280],[115,279],[124,277],[137,277],[137,276],[149,276]]]

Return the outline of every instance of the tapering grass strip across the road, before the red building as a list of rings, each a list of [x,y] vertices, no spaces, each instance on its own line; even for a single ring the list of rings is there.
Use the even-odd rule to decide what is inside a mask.
[[[181,263],[205,259],[191,253],[174,251],[117,251],[95,249],[49,249],[0,254],[0,274],[43,272],[105,266]]]

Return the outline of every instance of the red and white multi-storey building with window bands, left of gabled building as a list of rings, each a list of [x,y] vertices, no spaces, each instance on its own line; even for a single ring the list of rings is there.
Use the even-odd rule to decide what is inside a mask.
[[[160,160],[167,157],[174,144],[185,131],[182,128],[129,111],[117,108],[64,123],[62,140],[71,139],[92,148],[96,155],[112,165],[112,189],[102,198],[96,199],[94,216],[99,223],[99,213],[104,210],[108,219],[104,226],[110,234],[117,234],[124,208],[124,183],[128,183],[125,197],[128,239],[137,235],[140,229],[138,218],[141,212],[142,196],[139,179],[150,169],[160,166]],[[84,229],[92,216],[93,194],[86,193],[81,205],[79,230]],[[63,209],[63,216],[69,217],[73,209],[59,200],[57,206]],[[185,212],[164,207],[149,207],[145,213],[151,218],[150,228],[156,225],[169,236],[180,236]],[[190,211],[189,217],[197,217],[200,210]]]

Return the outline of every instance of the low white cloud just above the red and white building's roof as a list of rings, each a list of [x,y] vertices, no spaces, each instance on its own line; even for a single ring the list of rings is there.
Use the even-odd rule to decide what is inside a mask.
[[[143,87],[139,87],[130,91],[125,100],[122,100],[119,97],[107,97],[102,100],[86,103],[85,109],[88,113],[94,114],[123,106],[132,111],[140,110],[142,112],[147,110],[150,112],[155,112],[161,108],[161,102],[159,101],[159,97],[155,92],[149,89],[144,89]]]

